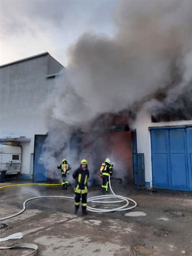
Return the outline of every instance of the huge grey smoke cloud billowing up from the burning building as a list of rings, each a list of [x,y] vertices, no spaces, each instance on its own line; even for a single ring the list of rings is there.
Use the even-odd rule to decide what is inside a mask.
[[[192,101],[192,2],[119,1],[112,15],[114,36],[87,32],[70,45],[67,72],[56,80],[43,106],[49,129],[48,169],[63,156],[78,166],[81,150],[75,150],[72,159],[70,137],[83,131],[90,141],[95,139],[92,131],[102,114],[134,112],[143,105],[157,114],[175,108],[181,95]],[[155,97],[160,90],[162,100]],[[104,123],[100,130],[105,130]],[[84,156],[91,159],[91,152]]]

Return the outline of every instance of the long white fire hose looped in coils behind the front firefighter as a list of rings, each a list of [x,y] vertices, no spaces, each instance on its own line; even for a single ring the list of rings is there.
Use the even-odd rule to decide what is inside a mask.
[[[123,206],[120,206],[120,207],[117,207],[117,208],[111,208],[111,209],[100,209],[100,208],[94,208],[94,207],[90,207],[87,205],[87,211],[92,211],[92,212],[96,212],[96,213],[105,213],[105,212],[111,212],[111,211],[128,211],[128,210],[131,210],[133,208],[135,208],[137,206],[137,203],[132,200],[131,198],[128,198],[128,197],[125,197],[125,196],[120,196],[120,195],[116,195],[112,188],[111,188],[111,181],[110,181],[110,175],[109,175],[109,187],[111,189],[111,192],[113,194],[109,194],[109,195],[101,195],[101,196],[92,196],[92,197],[89,197],[87,198],[87,203],[102,203],[102,204],[109,204],[109,203],[122,203],[122,202],[126,202],[125,205]],[[26,203],[28,201],[31,201],[31,200],[34,200],[34,199],[38,199],[38,198],[66,198],[66,199],[73,199],[74,200],[74,197],[71,197],[71,196],[36,196],[36,197],[32,197],[32,198],[29,198],[27,199],[24,203],[23,203],[23,209],[21,211],[19,211],[18,213],[15,213],[13,215],[10,215],[10,216],[7,216],[7,217],[4,217],[4,218],[0,218],[0,221],[1,220],[7,220],[7,219],[10,219],[10,218],[13,218],[19,214],[21,214],[23,211],[25,211],[26,209]],[[108,198],[119,198],[120,200],[115,200],[115,201],[98,201],[98,200],[102,200],[102,199],[108,199]],[[133,206],[130,206],[130,207],[127,207],[129,205],[129,201],[133,202],[134,205]]]

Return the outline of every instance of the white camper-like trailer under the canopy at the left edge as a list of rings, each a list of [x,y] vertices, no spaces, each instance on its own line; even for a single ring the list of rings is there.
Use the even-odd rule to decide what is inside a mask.
[[[21,147],[0,144],[0,171],[18,174],[21,171]]]

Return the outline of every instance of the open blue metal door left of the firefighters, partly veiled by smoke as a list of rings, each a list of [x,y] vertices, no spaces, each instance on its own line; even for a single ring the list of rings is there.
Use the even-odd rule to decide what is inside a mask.
[[[47,181],[47,170],[43,165],[42,146],[46,135],[35,135],[35,149],[34,149],[34,181]]]

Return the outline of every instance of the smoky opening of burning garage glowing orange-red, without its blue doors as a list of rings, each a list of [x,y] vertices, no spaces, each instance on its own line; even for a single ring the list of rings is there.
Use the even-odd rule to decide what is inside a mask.
[[[86,137],[86,134],[83,135]],[[113,163],[113,179],[117,182],[133,183],[131,132],[104,132],[95,134],[91,143],[82,139],[80,158],[86,158],[94,170],[94,179],[99,179],[98,173],[102,162],[107,157]]]

